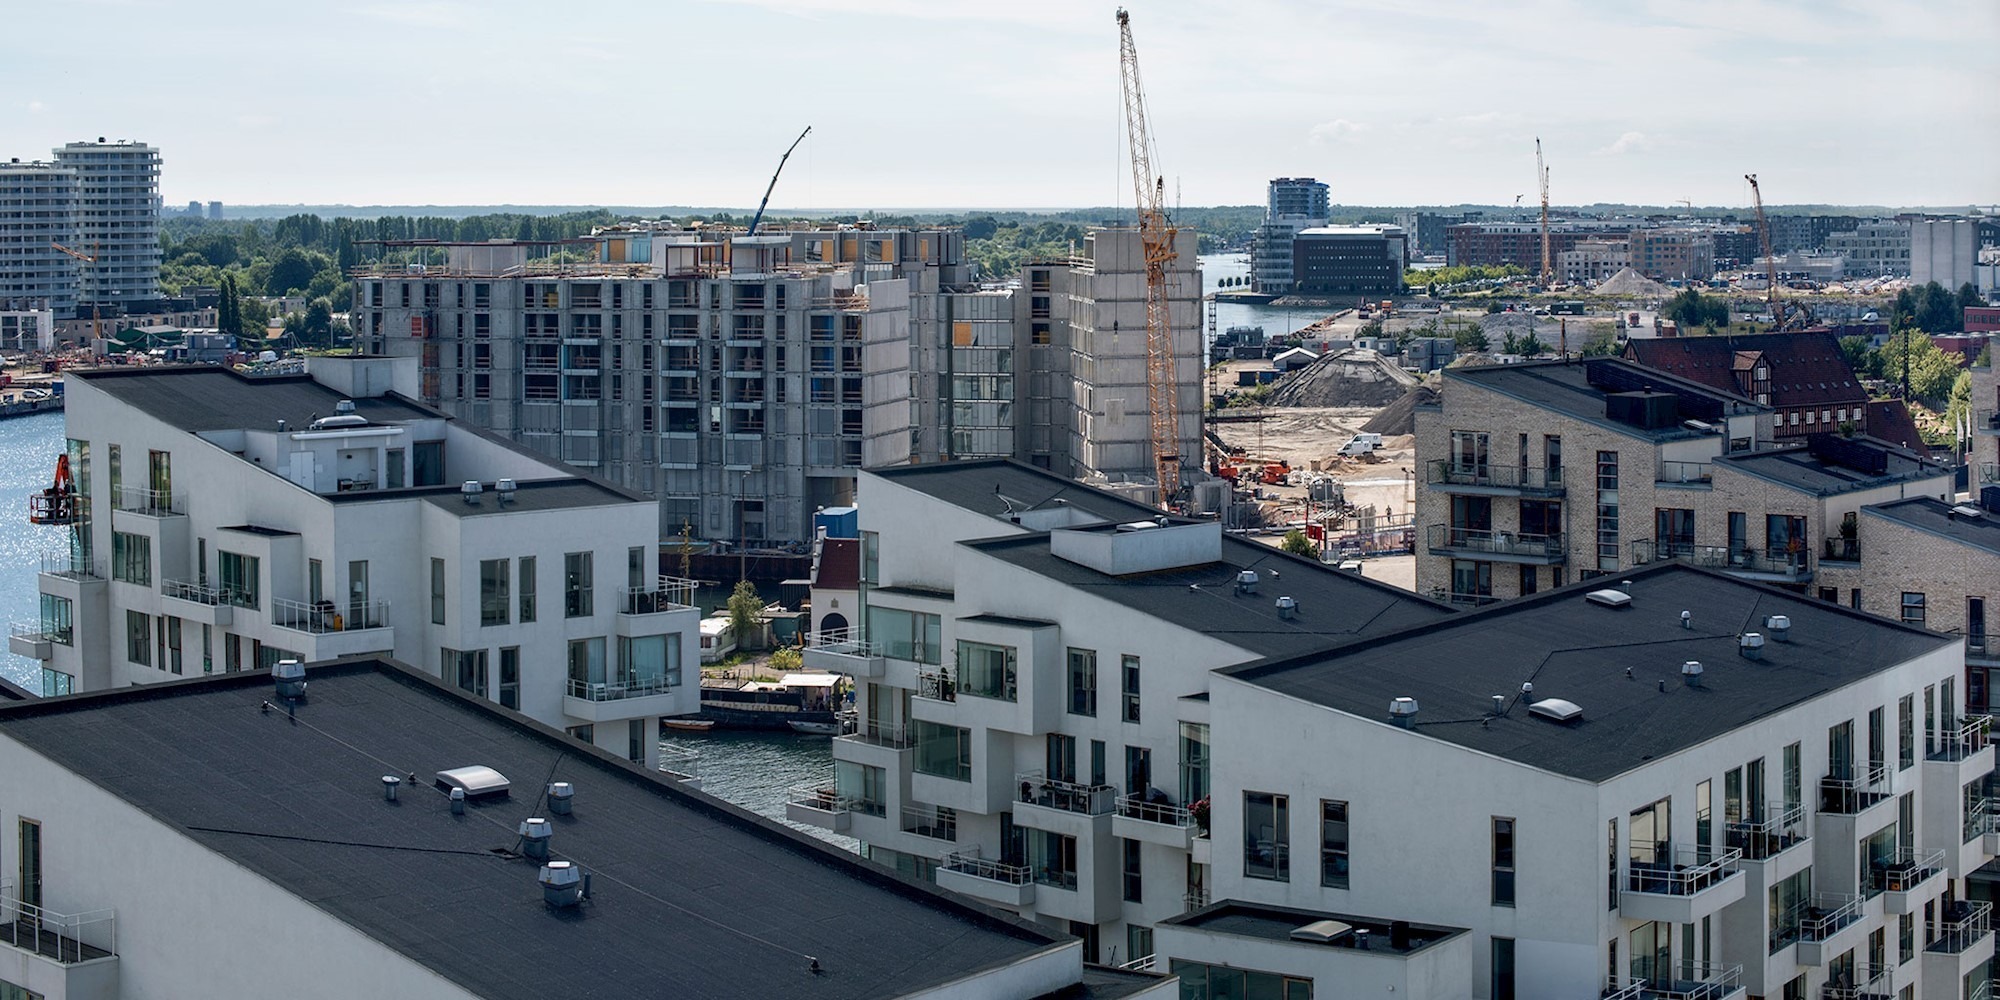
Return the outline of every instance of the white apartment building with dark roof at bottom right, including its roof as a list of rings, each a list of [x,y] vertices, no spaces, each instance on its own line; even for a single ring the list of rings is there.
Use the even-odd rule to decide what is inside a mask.
[[[1210,890],[1468,928],[1490,1000],[1982,998],[2000,828],[1962,670],[1686,566],[1228,668]],[[1290,958],[1256,968],[1318,978]]]

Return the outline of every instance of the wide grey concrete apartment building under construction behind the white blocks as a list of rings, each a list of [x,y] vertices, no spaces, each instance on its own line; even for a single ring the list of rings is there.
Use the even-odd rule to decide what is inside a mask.
[[[1134,484],[1156,468],[1136,230],[980,284],[952,228],[638,224],[568,244],[382,244],[362,350],[424,402],[660,500],[662,534],[804,542],[862,466],[1020,458]],[[1200,432],[1200,272],[1168,264],[1184,456]]]

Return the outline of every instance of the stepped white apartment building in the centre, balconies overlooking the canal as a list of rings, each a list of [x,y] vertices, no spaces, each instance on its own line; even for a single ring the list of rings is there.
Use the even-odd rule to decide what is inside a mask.
[[[868,470],[858,508],[860,628],[806,666],[860,730],[790,818],[1104,962],[1208,900],[1208,674],[1448,614],[1018,462]]]

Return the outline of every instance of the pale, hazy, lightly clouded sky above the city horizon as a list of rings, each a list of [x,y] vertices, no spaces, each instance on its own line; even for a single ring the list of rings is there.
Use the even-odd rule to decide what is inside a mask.
[[[1130,0],[1180,204],[2000,202],[1996,0]],[[166,204],[1130,206],[1114,4],[0,0],[0,156]],[[18,44],[30,42],[30,44]],[[78,46],[88,44],[90,52]]]

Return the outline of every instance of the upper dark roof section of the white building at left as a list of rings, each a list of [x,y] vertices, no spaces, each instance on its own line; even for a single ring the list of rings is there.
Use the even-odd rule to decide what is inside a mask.
[[[82,378],[138,410],[180,430],[306,430],[318,416],[334,416],[348,396],[312,376],[246,376],[212,364],[160,364],[144,368],[74,368],[66,378]],[[444,416],[414,400],[362,396],[354,412],[370,422],[422,420]]]

